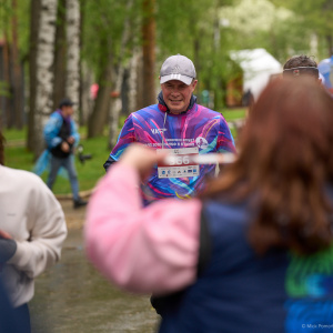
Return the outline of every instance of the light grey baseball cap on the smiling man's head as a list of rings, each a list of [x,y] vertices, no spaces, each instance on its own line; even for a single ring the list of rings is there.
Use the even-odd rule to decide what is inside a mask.
[[[190,85],[195,77],[193,62],[185,56],[176,54],[169,57],[163,62],[160,71],[160,83],[179,80]]]

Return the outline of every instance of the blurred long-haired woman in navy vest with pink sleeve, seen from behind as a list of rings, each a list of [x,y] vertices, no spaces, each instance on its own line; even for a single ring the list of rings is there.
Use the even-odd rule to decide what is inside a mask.
[[[120,287],[161,296],[160,332],[332,329],[332,128],[319,84],[273,80],[204,195],[144,209],[137,185],[165,157],[132,145],[90,201],[88,256]]]

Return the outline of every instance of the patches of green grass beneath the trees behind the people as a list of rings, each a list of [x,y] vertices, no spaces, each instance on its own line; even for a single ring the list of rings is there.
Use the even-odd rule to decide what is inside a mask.
[[[244,118],[245,109],[232,109],[221,110],[221,113],[226,121]],[[123,123],[124,119],[121,119]],[[80,133],[85,138],[87,129],[80,128]],[[108,131],[105,131],[108,132]],[[232,135],[236,139],[236,132],[231,129]],[[4,149],[4,162],[7,167],[14,169],[22,169],[32,171],[34,165],[33,154],[29,152],[24,147],[27,129],[19,130],[3,130],[3,135],[8,145]],[[19,144],[19,143],[23,144]],[[17,144],[16,144],[17,143]],[[110,150],[108,149],[108,137],[101,135],[93,139],[82,139],[80,142],[83,148],[84,154],[92,154],[91,160],[87,160],[83,164],[80,163],[78,155],[75,154],[75,168],[79,176],[80,191],[91,190],[97,181],[105,174],[103,163],[107,161]],[[46,171],[41,178],[46,181],[48,172]],[[71,193],[69,180],[59,175],[53,186],[54,194]]]

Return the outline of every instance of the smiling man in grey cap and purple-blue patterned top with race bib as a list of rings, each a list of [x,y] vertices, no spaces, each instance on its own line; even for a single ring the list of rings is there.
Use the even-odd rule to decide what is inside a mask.
[[[181,54],[169,57],[160,71],[158,103],[133,112],[125,120],[118,142],[103,164],[108,171],[132,142],[158,151],[170,150],[173,165],[155,165],[141,186],[144,204],[164,198],[191,198],[204,188],[204,179],[216,173],[215,164],[191,162],[198,154],[235,152],[234,140],[223,115],[196,103],[198,83],[193,62]],[[142,157],[144,158],[144,157]]]

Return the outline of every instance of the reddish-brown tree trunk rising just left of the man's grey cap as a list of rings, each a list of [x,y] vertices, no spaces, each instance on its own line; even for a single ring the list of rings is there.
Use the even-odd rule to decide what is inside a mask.
[[[155,103],[155,0],[143,0],[142,50],[143,50],[143,105]]]

